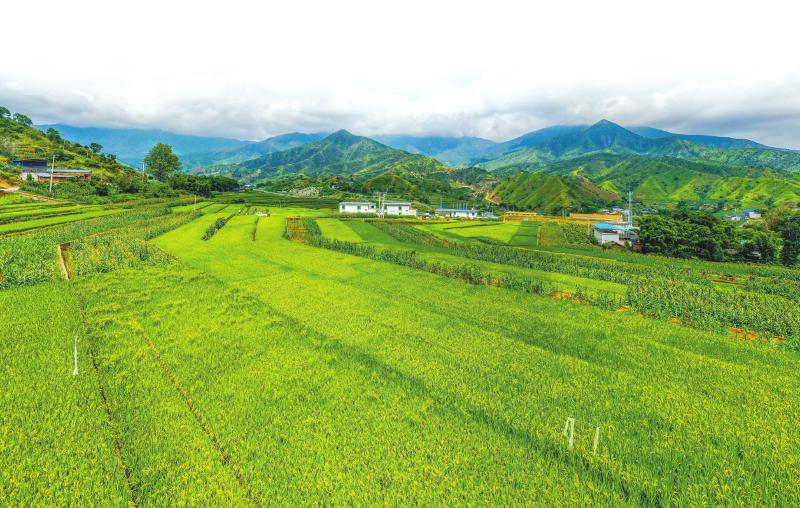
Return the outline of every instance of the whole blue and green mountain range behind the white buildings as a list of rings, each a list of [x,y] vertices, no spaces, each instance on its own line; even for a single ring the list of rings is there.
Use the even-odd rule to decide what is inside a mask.
[[[129,133],[118,131],[93,141],[122,142]],[[136,146],[152,140],[137,136]],[[607,120],[548,127],[502,143],[466,136],[371,139],[345,130],[260,142],[201,138],[207,145],[188,138],[178,138],[183,149],[206,149],[182,154],[185,169],[282,188],[302,182],[353,192],[391,189],[420,200],[471,194],[551,213],[620,202],[627,191],[664,206],[800,202],[800,152],[746,139],[626,129]]]

